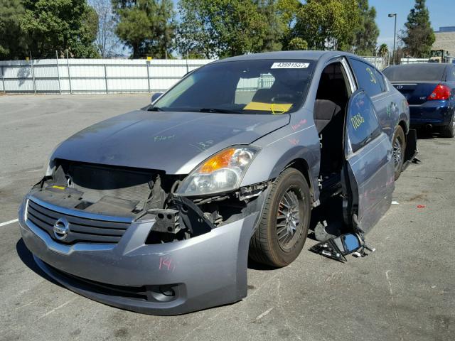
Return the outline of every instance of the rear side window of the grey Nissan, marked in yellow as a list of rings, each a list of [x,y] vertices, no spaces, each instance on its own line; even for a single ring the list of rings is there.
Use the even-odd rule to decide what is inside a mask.
[[[357,78],[358,87],[365,90],[368,96],[373,97],[385,91],[384,79],[375,67],[360,60],[351,58],[349,60]]]

